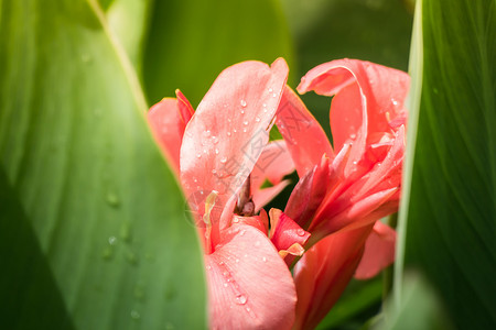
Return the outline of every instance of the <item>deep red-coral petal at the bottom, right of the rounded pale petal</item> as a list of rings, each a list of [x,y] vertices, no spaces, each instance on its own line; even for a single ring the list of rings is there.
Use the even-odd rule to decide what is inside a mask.
[[[371,230],[332,234],[305,252],[294,266],[298,304],[293,329],[313,329],[346,288]]]

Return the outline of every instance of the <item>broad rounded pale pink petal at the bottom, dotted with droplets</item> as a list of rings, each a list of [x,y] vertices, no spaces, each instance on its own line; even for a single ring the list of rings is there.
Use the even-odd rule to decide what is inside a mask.
[[[287,265],[259,230],[229,231],[205,255],[211,329],[291,329],[296,294]]]

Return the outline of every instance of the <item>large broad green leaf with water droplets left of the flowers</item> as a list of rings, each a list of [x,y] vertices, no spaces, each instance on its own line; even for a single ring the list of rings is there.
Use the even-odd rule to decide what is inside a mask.
[[[205,327],[200,243],[104,10],[0,8],[0,328]]]

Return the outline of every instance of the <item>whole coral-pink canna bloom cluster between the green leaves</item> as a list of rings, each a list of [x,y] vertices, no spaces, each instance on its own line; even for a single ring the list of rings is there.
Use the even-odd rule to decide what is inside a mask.
[[[393,231],[376,220],[398,207],[408,76],[344,59],[303,78],[299,91],[336,95],[335,153],[287,75],[283,59],[240,63],[196,112],[176,91],[149,113],[205,250],[213,329],[312,328],[355,272],[374,276],[392,262]],[[269,143],[274,123],[284,140]],[[300,182],[269,220],[261,207],[294,168]],[[302,254],[293,280],[288,265]]]

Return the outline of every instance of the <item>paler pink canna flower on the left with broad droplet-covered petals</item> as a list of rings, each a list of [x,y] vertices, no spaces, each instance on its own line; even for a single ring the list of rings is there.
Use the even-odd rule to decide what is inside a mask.
[[[268,143],[287,76],[282,58],[271,67],[240,63],[217,77],[196,111],[177,91],[149,112],[197,221],[213,329],[294,322],[296,293],[282,256],[301,254],[309,233],[281,212],[270,212],[270,232],[268,215],[255,216],[294,168],[283,141]],[[262,188],[265,180],[273,186]]]

